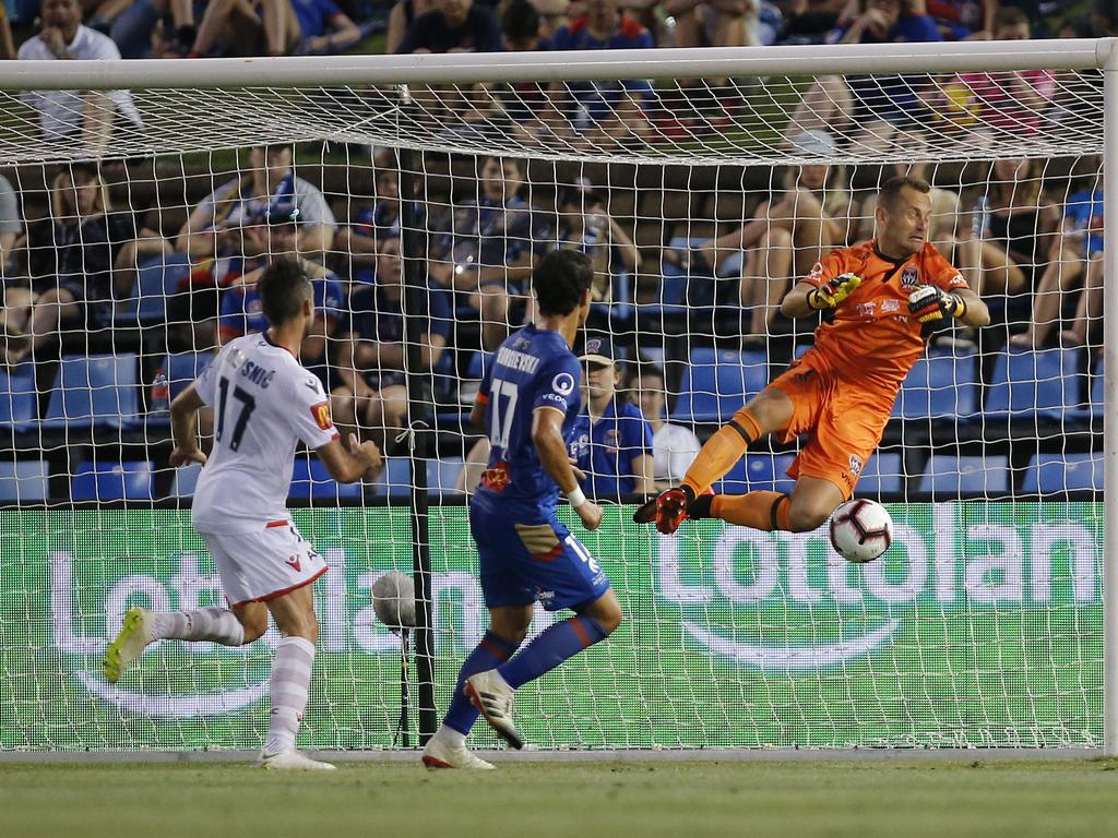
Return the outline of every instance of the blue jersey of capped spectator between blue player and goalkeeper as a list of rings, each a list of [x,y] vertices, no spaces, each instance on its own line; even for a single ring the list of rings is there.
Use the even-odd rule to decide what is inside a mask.
[[[636,458],[652,454],[652,426],[636,404],[615,399],[593,425],[578,418],[568,451],[588,475],[586,494],[617,501],[636,492]]]

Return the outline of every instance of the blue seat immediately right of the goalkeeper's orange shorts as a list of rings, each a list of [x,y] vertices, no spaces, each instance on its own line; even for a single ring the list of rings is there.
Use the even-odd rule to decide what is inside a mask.
[[[916,362],[893,404],[901,419],[969,419],[977,412],[977,355],[936,349]]]

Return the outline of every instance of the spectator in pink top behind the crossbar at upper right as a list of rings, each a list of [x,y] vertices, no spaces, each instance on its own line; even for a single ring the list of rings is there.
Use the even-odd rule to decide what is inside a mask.
[[[1029,18],[1021,9],[1011,6],[997,11],[994,18],[996,40],[1029,40],[1031,37]],[[993,141],[998,136],[1020,136],[1040,130],[1042,115],[1055,96],[1057,75],[1045,69],[964,73],[945,91],[955,108],[948,118],[967,127],[972,134],[977,131]]]

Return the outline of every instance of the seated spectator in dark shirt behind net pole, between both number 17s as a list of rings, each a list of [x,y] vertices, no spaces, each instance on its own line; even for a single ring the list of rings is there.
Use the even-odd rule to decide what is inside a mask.
[[[394,430],[405,426],[408,392],[405,389],[404,285],[400,240],[379,242],[376,276],[359,283],[350,295],[349,333],[339,343],[337,378],[330,390],[334,420],[343,427],[372,429],[383,450],[392,447]],[[420,366],[429,372],[438,363],[453,326],[451,294],[428,285],[425,292],[424,333],[419,339]]]

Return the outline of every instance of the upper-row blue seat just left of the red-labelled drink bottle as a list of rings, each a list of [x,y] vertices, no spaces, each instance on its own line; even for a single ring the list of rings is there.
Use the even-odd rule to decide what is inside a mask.
[[[139,415],[135,355],[67,355],[58,365],[42,426],[125,428]]]

